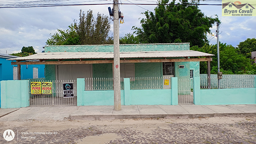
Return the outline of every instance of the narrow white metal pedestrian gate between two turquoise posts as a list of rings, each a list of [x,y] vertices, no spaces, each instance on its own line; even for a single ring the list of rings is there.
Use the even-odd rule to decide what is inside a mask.
[[[178,78],[178,104],[194,104],[192,78]]]

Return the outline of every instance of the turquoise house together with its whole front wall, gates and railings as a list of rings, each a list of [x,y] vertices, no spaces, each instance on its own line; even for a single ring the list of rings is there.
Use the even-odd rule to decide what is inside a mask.
[[[216,87],[211,56],[189,50],[189,43],[120,45],[121,105],[256,104],[256,78],[223,77]],[[45,65],[46,80],[33,82],[51,84],[52,94],[32,95],[31,80],[1,81],[3,108],[114,104],[113,45],[45,46],[44,53],[9,60],[17,67]],[[200,61],[208,64],[204,78]]]

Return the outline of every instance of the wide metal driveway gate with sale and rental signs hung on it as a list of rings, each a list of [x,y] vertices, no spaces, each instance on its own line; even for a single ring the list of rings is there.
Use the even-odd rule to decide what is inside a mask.
[[[42,94],[33,95],[31,93],[31,82],[51,83],[52,94],[49,95],[42,92]],[[64,97],[63,83],[73,84],[73,97]],[[29,84],[29,105],[77,105],[76,80],[46,81],[44,79],[30,79]]]

